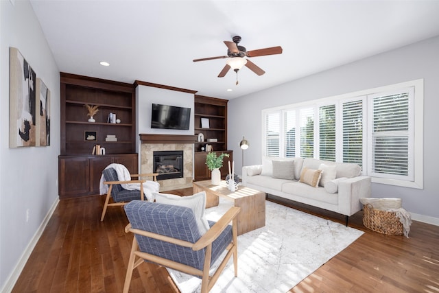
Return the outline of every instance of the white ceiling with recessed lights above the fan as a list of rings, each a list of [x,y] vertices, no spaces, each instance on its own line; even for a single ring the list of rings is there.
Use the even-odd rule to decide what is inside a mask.
[[[31,0],[62,72],[231,99],[439,35],[439,1]],[[217,78],[224,40],[281,46]],[[110,67],[102,67],[105,60]],[[226,89],[233,89],[227,92]]]

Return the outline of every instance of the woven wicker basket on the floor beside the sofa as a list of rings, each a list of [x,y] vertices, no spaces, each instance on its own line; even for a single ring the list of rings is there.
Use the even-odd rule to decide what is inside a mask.
[[[372,204],[366,204],[363,207],[363,224],[366,228],[378,233],[403,235],[403,224],[399,222],[396,213],[374,209]]]

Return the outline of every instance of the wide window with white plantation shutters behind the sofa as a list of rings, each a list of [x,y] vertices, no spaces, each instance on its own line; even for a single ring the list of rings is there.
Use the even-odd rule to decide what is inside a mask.
[[[372,182],[423,188],[423,80],[263,110],[263,117],[266,156],[357,163]]]

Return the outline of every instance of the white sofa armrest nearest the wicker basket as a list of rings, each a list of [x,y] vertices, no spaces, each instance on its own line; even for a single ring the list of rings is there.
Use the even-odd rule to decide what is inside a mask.
[[[357,176],[341,180],[338,184],[340,212],[353,215],[361,209],[360,198],[370,198],[370,176]]]

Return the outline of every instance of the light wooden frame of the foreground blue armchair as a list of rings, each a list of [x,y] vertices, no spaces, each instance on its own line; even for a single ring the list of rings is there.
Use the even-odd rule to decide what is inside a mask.
[[[209,292],[215,282],[217,281],[219,275],[222,273],[226,264],[230,257],[233,255],[233,266],[235,270],[235,277],[238,275],[238,255],[237,255],[237,215],[241,211],[240,207],[231,207],[221,219],[218,220],[210,229],[207,231],[197,242],[191,243],[187,241],[183,241],[180,239],[175,239],[172,237],[167,237],[165,235],[160,235],[156,233],[151,233],[139,229],[134,229],[131,227],[131,224],[128,224],[125,228],[126,233],[131,232],[134,233],[134,237],[132,240],[131,252],[130,252],[130,260],[128,261],[128,268],[126,271],[125,283],[123,284],[123,293],[128,293],[130,289],[130,283],[132,278],[132,271],[143,263],[144,260],[152,261],[153,263],[158,263],[160,266],[165,266],[167,268],[172,268],[174,270],[179,270],[180,272],[185,272],[187,274],[192,274],[195,276],[202,277],[201,283],[201,293]],[[217,237],[224,231],[226,226],[230,222],[233,222],[232,226],[232,242],[228,244],[226,250],[226,256],[219,264],[217,270],[213,273],[212,276],[209,276],[209,270],[211,269],[211,257],[212,257],[212,243]],[[135,235],[143,235],[146,237],[151,237],[154,239],[162,240],[165,242],[169,242],[172,244],[190,247],[192,250],[201,250],[206,248],[206,252],[204,255],[204,266],[203,270],[198,270],[197,268],[193,268],[191,266],[187,266],[182,263],[178,263],[171,259],[165,259],[163,257],[158,257],[156,255],[151,255],[149,253],[143,253],[139,251],[139,245],[137,244],[137,239]]]

